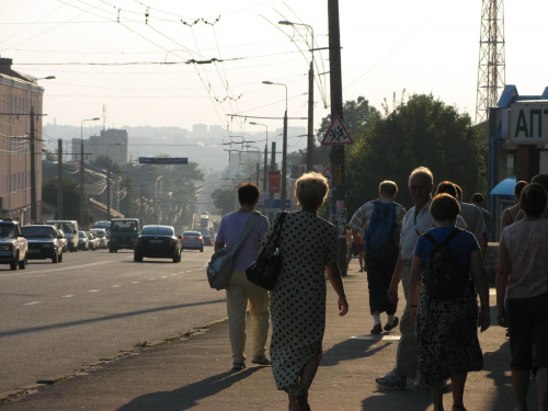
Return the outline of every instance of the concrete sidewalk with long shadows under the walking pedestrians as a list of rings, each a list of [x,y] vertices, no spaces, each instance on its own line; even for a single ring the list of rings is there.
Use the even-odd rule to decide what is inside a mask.
[[[344,278],[350,312],[339,317],[336,298],[328,287],[327,331],[323,359],[310,390],[312,410],[432,410],[430,395],[413,389],[379,387],[375,378],[389,372],[396,361],[399,331],[369,334],[367,282],[355,260]],[[220,295],[220,294],[219,294]],[[400,297],[403,293],[400,290]],[[491,296],[494,307],[494,294]],[[398,309],[401,316],[402,305]],[[468,376],[465,406],[469,411],[512,411],[515,401],[509,373],[505,330],[493,326],[480,336],[484,369]],[[386,316],[381,316],[386,320]],[[248,341],[250,335],[248,335]],[[251,357],[250,343],[248,358]],[[220,321],[191,336],[170,343],[122,353],[117,359],[82,367],[76,375],[53,385],[28,387],[30,393],[10,397],[0,406],[14,410],[286,410],[287,396],[277,391],[270,367],[249,362],[242,372],[230,372],[231,353],[227,323]],[[536,404],[532,381],[529,407]],[[450,390],[450,385],[449,385]],[[5,398],[5,397],[4,397]],[[445,409],[453,403],[444,396]]]

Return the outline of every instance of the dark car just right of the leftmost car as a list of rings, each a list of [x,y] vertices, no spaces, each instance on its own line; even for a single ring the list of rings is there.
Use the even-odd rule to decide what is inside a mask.
[[[28,242],[28,260],[52,259],[53,263],[62,261],[62,242],[57,227],[49,225],[23,226],[21,228]]]

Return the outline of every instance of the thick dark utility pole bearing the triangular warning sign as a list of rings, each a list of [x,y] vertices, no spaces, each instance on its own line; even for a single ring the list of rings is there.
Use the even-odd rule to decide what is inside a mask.
[[[339,0],[328,0],[329,19],[329,68],[331,83],[331,118],[336,115],[343,119],[342,72],[341,72],[341,38],[339,26]],[[339,266],[343,276],[346,275],[346,205],[344,189],[344,146],[331,146],[332,215],[333,224],[339,228]]]

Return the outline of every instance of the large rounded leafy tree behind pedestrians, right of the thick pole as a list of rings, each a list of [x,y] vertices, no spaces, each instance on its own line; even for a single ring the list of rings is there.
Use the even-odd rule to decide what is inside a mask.
[[[390,112],[375,113],[362,128],[346,156],[346,207],[349,215],[378,195],[378,184],[398,184],[397,202],[412,206],[409,174],[420,165],[432,170],[435,183],[449,180],[467,194],[487,187],[487,147],[481,129],[468,114],[459,114],[432,95],[414,94]]]

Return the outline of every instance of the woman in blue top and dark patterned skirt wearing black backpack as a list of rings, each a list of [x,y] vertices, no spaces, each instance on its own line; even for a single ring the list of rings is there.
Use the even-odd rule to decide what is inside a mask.
[[[467,375],[483,367],[476,327],[483,332],[490,324],[489,286],[480,249],[471,232],[455,227],[459,212],[458,201],[450,194],[432,199],[430,213],[436,227],[419,238],[411,263],[409,294],[418,379],[430,387],[434,411],[444,409],[443,386],[449,377],[452,411],[466,411]],[[439,285],[444,276],[450,276],[446,288]],[[479,315],[475,285],[481,301]]]

